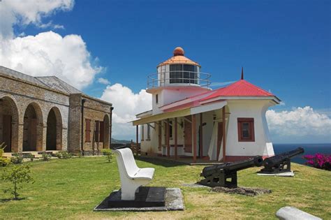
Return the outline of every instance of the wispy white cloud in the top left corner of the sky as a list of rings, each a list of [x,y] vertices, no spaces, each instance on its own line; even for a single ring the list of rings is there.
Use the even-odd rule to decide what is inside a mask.
[[[42,17],[50,16],[58,10],[71,10],[73,6],[73,0],[3,0],[0,3],[0,38],[13,38],[15,24],[43,27]],[[53,27],[56,25],[52,24]]]

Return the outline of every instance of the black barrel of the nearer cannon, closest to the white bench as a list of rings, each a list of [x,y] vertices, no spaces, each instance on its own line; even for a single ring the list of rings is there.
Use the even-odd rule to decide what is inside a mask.
[[[244,170],[246,168],[250,168],[253,166],[262,166],[263,159],[262,156],[254,156],[248,160],[245,161],[237,161],[233,163],[223,163],[220,165],[214,165],[214,166],[207,166],[203,168],[203,177],[208,177],[210,175],[213,175],[214,173],[219,172],[219,170],[225,170],[225,171],[238,171],[238,170]]]

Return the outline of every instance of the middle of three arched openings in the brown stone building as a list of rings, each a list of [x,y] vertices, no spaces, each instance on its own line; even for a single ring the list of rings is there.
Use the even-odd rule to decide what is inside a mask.
[[[37,103],[30,103],[23,119],[23,152],[43,151],[43,112]]]

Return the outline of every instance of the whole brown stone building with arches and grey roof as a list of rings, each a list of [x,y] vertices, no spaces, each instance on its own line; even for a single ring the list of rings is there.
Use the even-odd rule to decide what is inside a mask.
[[[112,104],[55,76],[0,66],[0,143],[5,152],[98,153],[111,141]]]

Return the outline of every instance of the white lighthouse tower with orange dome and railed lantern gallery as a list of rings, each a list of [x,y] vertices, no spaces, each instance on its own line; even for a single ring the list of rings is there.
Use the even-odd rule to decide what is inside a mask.
[[[147,92],[152,94],[152,114],[163,112],[163,105],[209,91],[210,74],[201,73],[201,66],[184,57],[182,47],[176,47],[173,57],[157,66],[157,73],[148,76]]]

